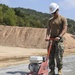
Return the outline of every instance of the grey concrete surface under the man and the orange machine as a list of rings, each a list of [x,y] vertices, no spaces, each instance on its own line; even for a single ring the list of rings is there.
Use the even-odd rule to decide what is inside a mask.
[[[63,75],[75,75],[75,55],[64,57]],[[0,68],[0,75],[26,75],[28,64]],[[56,68],[57,75],[57,68]]]

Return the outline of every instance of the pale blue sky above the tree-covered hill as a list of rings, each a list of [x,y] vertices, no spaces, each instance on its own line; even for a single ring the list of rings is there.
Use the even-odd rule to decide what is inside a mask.
[[[75,20],[75,0],[0,0],[0,3],[9,7],[30,8],[45,13],[49,13],[51,2],[56,2],[60,6],[61,15]]]

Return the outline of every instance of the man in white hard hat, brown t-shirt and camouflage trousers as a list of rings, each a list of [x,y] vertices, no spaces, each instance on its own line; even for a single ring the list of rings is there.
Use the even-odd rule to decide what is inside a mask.
[[[59,6],[56,3],[50,4],[50,12],[52,14],[52,18],[49,19],[49,25],[47,27],[46,41],[49,41],[50,38],[55,38],[52,43],[52,49],[49,57],[49,75],[55,75],[55,59],[58,68],[58,74],[62,75],[62,67],[63,67],[63,52],[64,52],[64,44],[63,44],[63,35],[67,31],[67,20],[63,16],[59,15]],[[49,41],[49,45],[50,45]]]

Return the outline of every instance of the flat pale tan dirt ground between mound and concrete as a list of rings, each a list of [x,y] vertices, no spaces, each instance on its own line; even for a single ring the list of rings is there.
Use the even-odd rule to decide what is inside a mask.
[[[31,55],[46,55],[46,49],[27,49],[0,46],[0,67],[28,63]],[[75,54],[75,49],[66,49],[64,56]]]

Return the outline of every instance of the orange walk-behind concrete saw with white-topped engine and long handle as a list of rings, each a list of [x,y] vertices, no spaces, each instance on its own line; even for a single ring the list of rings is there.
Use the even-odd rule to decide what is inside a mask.
[[[50,56],[50,50],[52,47],[52,41],[54,38],[50,38],[50,46],[48,48],[47,56],[31,56],[30,64],[28,66],[30,72],[27,75],[48,75],[48,59]]]

